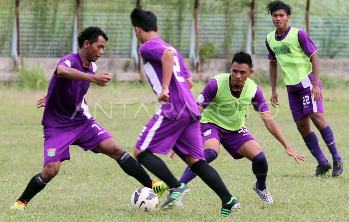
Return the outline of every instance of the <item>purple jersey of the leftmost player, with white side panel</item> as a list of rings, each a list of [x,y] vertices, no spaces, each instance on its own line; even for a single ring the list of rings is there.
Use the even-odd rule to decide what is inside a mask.
[[[97,69],[95,63],[84,66],[79,53],[64,56],[57,64],[74,68],[93,75]],[[84,96],[90,82],[70,80],[56,76],[55,69],[47,90],[46,105],[41,124],[51,127],[67,127],[79,124],[91,118]]]

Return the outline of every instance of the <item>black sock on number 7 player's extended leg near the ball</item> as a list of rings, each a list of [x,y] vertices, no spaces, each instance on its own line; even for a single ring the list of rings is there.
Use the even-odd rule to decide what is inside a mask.
[[[133,157],[131,157],[126,151],[124,151],[121,154],[120,158],[116,161],[125,173],[134,177],[144,187],[148,187],[151,189],[152,180],[150,179],[150,176],[139,164],[139,162],[137,162]]]

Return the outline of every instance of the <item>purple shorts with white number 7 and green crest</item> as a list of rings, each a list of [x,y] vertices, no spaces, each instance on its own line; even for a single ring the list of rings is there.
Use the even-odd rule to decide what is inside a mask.
[[[44,166],[49,162],[69,160],[70,145],[92,150],[110,137],[108,131],[92,118],[68,127],[44,126]]]

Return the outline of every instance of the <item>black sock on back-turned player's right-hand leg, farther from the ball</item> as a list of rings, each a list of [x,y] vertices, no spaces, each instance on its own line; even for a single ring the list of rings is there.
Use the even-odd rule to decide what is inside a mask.
[[[232,197],[227,187],[225,186],[221,176],[217,171],[208,165],[205,160],[195,162],[190,170],[198,175],[203,182],[205,182],[217,195],[221,198],[222,203],[226,204]]]

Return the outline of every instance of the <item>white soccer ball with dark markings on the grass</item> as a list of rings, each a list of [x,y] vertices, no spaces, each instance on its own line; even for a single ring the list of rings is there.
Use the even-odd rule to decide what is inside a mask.
[[[135,190],[131,196],[131,205],[135,210],[139,211],[154,211],[159,203],[154,190],[141,187]]]

